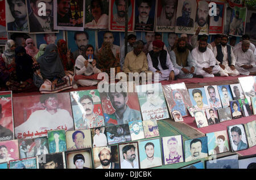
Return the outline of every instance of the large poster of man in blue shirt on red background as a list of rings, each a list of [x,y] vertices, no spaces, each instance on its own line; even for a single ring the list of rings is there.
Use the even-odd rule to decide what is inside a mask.
[[[136,92],[127,92],[127,86],[122,84],[122,92],[117,88],[120,84],[110,84],[109,92],[100,93],[105,125],[115,126],[128,124],[131,121],[142,120]],[[113,90],[111,90],[113,89]]]

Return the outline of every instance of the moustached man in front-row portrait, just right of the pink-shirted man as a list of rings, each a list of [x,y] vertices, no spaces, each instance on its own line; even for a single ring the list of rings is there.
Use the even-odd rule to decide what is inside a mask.
[[[202,141],[200,139],[193,139],[190,142],[190,152],[191,156],[186,158],[186,162],[198,160],[200,158],[204,158],[208,156],[208,153],[201,152],[202,151]]]

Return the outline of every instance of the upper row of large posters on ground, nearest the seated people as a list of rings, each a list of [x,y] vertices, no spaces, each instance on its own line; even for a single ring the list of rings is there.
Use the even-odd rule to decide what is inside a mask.
[[[177,112],[183,121],[182,117],[194,111],[197,127],[205,127],[215,124],[210,123],[211,119],[217,123],[252,115],[251,107],[255,114],[256,83],[247,83],[255,82],[254,78],[255,76],[238,78],[241,85],[210,85],[188,90],[184,83],[163,86],[156,83],[137,85],[136,91],[133,92],[130,89],[127,91],[127,86],[123,84],[106,85],[105,92],[92,89],[13,98],[11,92],[2,92],[0,138],[14,139],[14,128],[15,138],[26,139],[45,135],[48,130],[55,129],[111,127],[127,125],[138,120],[167,118],[180,121],[176,114],[172,115],[174,112]],[[122,92],[117,92],[117,87],[121,87]],[[194,110],[190,110],[191,107]],[[208,118],[205,117],[204,111]],[[218,118],[218,121],[215,118]]]

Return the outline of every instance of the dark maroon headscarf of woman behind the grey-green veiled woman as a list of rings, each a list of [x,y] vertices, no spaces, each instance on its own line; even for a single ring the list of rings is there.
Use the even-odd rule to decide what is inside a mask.
[[[62,50],[63,44],[65,44],[65,47],[66,47],[64,52]],[[68,67],[69,65],[68,65],[68,57],[67,57],[67,53],[68,53],[67,42],[64,41],[64,40],[57,41],[57,49],[58,49],[58,52],[59,52],[61,62],[63,63],[64,70],[65,71],[72,70],[73,65],[75,64],[75,61],[74,61],[73,56],[71,55],[72,67]]]

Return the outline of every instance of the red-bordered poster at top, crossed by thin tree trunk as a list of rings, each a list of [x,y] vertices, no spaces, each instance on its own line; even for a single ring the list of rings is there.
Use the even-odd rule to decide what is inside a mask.
[[[109,0],[109,31],[125,31],[125,0]],[[134,30],[135,1],[128,0],[128,32]]]

